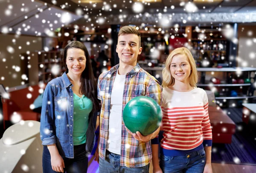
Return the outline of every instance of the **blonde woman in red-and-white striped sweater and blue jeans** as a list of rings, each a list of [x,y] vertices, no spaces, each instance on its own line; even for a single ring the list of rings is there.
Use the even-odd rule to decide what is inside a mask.
[[[185,47],[173,50],[163,69],[163,173],[212,173],[208,98],[197,82],[191,52]]]

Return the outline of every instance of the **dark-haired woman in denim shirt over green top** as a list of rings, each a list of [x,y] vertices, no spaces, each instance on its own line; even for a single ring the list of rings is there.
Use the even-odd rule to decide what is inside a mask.
[[[86,173],[95,143],[99,102],[89,53],[79,41],[64,49],[66,72],[44,91],[41,140],[44,173]]]

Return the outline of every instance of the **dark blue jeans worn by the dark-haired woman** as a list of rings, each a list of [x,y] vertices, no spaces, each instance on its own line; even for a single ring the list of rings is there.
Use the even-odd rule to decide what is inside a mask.
[[[74,146],[74,159],[62,157],[64,160],[65,168],[64,173],[87,173],[88,167],[88,154],[85,151],[85,144]],[[44,146],[43,150],[43,172],[44,173],[57,173],[52,170],[51,155],[47,148]]]

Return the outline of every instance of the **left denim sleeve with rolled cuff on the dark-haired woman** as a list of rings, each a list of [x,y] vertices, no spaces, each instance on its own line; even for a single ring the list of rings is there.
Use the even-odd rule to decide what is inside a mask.
[[[55,137],[55,112],[54,112],[54,86],[47,84],[44,90],[41,124],[40,124],[40,137],[43,145],[51,145],[56,143]]]

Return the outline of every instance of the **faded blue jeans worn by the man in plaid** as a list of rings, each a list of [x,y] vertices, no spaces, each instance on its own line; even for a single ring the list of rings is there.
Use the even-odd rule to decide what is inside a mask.
[[[120,155],[106,150],[105,160],[99,158],[100,173],[149,173],[149,164],[144,167],[120,166]]]

